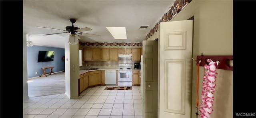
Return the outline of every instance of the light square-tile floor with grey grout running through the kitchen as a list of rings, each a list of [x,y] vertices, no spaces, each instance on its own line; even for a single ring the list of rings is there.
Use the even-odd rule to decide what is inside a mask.
[[[79,99],[69,99],[66,94],[29,98],[23,101],[23,118],[142,118],[140,86],[105,88],[87,88]]]

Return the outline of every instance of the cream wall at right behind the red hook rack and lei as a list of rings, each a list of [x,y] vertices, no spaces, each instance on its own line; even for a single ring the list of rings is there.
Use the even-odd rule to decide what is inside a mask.
[[[193,58],[233,55],[233,1],[192,0],[170,21],[187,20],[194,16]],[[204,68],[200,66],[199,95],[202,94]],[[214,92],[211,118],[233,118],[233,71],[217,69],[216,92]],[[197,66],[193,62],[192,114],[196,118]],[[202,102],[199,97],[199,104]],[[200,113],[198,111],[198,113]],[[198,116],[200,117],[200,116]]]

